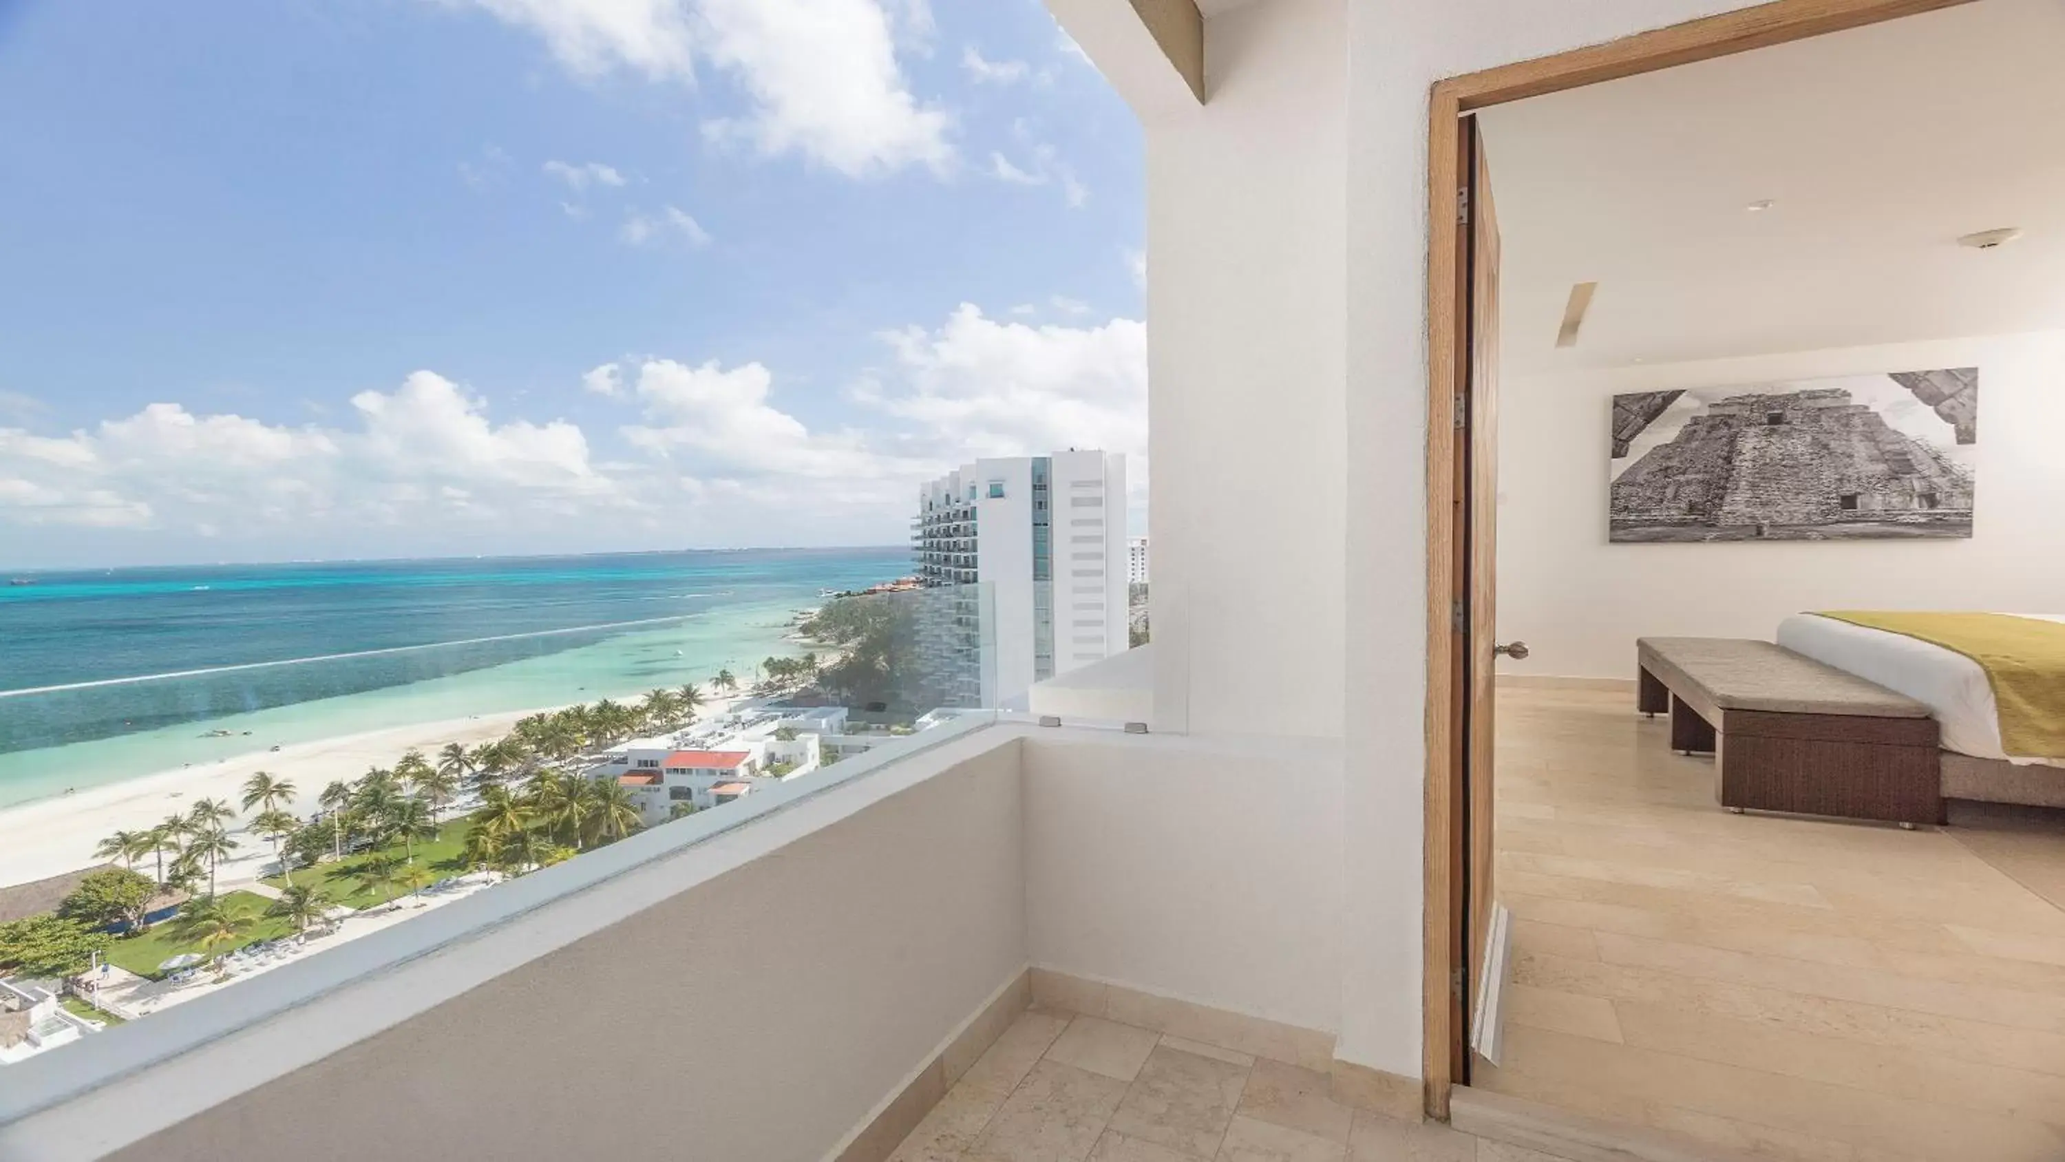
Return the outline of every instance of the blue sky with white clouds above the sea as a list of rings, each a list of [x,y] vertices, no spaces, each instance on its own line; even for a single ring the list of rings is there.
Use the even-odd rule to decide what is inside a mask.
[[[0,0],[0,563],[888,543],[1144,452],[1140,132],[1037,0],[116,8]]]

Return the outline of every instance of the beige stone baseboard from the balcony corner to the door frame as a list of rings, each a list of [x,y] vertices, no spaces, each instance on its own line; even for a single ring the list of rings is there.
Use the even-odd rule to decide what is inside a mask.
[[[1247,1057],[1268,1057],[1328,1075],[1336,1102],[1375,1115],[1421,1121],[1425,1086],[1419,1077],[1386,1073],[1334,1057],[1334,1034],[1272,1022],[1196,1001],[1144,993],[1109,980],[1032,968],[1032,1003],[1148,1028]]]

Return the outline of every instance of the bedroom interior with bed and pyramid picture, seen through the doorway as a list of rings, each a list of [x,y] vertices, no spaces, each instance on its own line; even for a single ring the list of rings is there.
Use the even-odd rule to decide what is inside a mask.
[[[1974,0],[1474,114],[1526,644],[1474,1090],[2065,1158],[2059,60]]]

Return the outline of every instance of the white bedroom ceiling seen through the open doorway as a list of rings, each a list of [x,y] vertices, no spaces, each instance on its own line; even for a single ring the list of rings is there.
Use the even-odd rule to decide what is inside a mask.
[[[1489,109],[1507,374],[2065,326],[2061,60],[1984,0]]]

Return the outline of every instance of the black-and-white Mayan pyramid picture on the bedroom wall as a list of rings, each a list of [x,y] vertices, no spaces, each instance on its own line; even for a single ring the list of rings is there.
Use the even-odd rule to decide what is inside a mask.
[[[1704,411],[1613,481],[1611,539],[1970,537],[1972,473],[1949,446],[1978,440],[1978,372],[1887,380],[1943,421],[1943,446],[1894,429],[1844,388],[1702,392]],[[1683,394],[1615,396],[1617,462]]]

